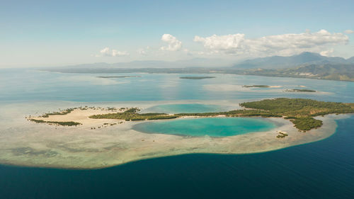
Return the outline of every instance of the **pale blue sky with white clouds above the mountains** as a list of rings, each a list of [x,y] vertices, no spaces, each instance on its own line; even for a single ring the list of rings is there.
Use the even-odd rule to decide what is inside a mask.
[[[354,1],[5,1],[0,67],[354,56]]]

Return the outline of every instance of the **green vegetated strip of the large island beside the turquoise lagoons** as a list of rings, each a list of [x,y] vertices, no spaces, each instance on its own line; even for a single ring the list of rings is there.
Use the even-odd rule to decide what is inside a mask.
[[[329,114],[341,114],[341,113],[354,113],[354,103],[335,103],[315,101],[311,99],[303,98],[275,98],[265,99],[262,101],[245,102],[239,104],[244,109],[230,110],[227,112],[217,113],[178,113],[178,114],[166,114],[166,113],[139,113],[139,108],[120,108],[120,112],[105,113],[89,115],[91,119],[110,119],[110,120],[125,120],[125,121],[137,121],[137,120],[167,120],[183,117],[263,117],[263,118],[284,118],[290,120],[295,127],[300,131],[312,130],[314,128],[321,127],[323,125],[321,120],[317,120],[314,117],[319,115]],[[39,118],[28,118],[28,120],[36,123],[49,123],[56,125],[81,125],[75,121],[50,121],[43,120],[41,118],[47,118],[49,115],[66,115],[71,113],[75,109],[87,109],[86,108],[71,108],[63,110],[62,112],[46,113]],[[108,108],[101,110],[113,110],[115,108]]]

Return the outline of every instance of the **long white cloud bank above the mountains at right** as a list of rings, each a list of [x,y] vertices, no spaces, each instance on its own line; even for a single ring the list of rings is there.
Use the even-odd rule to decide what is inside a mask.
[[[213,53],[231,55],[291,55],[302,51],[319,51],[327,45],[347,44],[348,36],[343,33],[329,33],[319,30],[311,33],[270,35],[262,38],[246,39],[244,34],[212,35],[202,38],[195,36],[195,42],[201,42],[205,49]]]

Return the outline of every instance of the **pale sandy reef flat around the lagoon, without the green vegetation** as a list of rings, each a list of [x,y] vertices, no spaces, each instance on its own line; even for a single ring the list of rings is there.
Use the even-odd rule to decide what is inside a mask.
[[[125,164],[139,159],[165,157],[178,154],[214,153],[249,154],[315,142],[331,136],[336,131],[336,119],[346,115],[319,117],[324,125],[316,130],[299,132],[292,123],[282,118],[266,118],[278,127],[267,132],[251,132],[229,137],[182,137],[178,135],[148,134],[132,130],[132,125],[142,122],[123,122],[100,129],[91,129],[117,120],[97,120],[89,115],[103,110],[74,110],[65,120],[77,120],[83,125],[57,127],[36,124],[25,120],[28,115],[41,115],[58,108],[77,106],[139,107],[167,103],[207,103],[230,106],[234,109],[242,101],[154,101],[117,103],[21,103],[1,105],[6,114],[0,116],[0,164],[40,166],[64,169],[99,169]],[[104,110],[108,111],[108,110]],[[48,120],[63,120],[64,115],[50,115]],[[178,120],[178,119],[177,119]],[[278,132],[289,136],[276,138]]]

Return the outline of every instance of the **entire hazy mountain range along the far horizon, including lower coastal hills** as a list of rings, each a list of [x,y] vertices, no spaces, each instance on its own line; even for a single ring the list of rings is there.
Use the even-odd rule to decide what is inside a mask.
[[[209,67],[213,66],[214,63],[208,62],[208,60],[210,59],[193,59],[193,62],[190,62],[190,60],[181,60],[177,62],[135,61],[117,64],[96,63],[48,68],[45,70],[51,72],[91,74],[139,72],[177,74],[218,73],[354,81],[354,57],[344,59],[342,57],[324,57],[312,52],[303,52],[290,57],[273,56],[249,59],[245,62],[252,62],[254,64],[253,67],[249,68]],[[208,62],[208,67],[202,67],[202,62]],[[270,67],[268,62],[275,64],[275,67]],[[283,64],[280,64],[282,62]],[[239,65],[236,64],[236,66]]]

